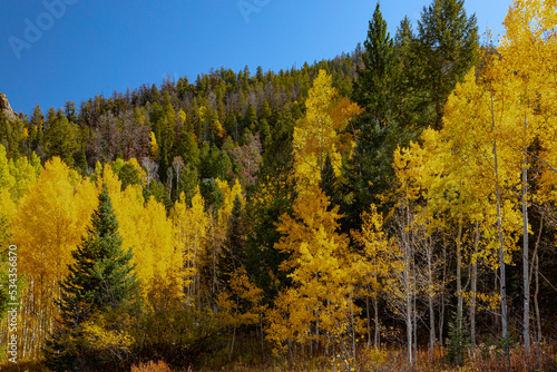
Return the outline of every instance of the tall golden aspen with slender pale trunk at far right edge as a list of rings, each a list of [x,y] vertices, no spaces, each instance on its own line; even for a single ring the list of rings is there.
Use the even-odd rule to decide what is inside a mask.
[[[557,84],[555,81],[555,58],[557,40],[555,28],[557,14],[555,0],[516,0],[505,19],[506,32],[499,52],[502,63],[499,79],[514,80],[515,89],[511,105],[520,108],[515,117],[516,151],[521,159],[521,206],[522,206],[522,284],[524,284],[524,329],[525,350],[530,351],[529,316],[529,223],[528,168],[537,155],[529,151],[530,145],[538,139],[543,148],[550,148],[555,131],[557,105],[555,102]],[[512,97],[514,96],[514,97]],[[510,145],[510,144],[509,144]],[[548,146],[549,145],[549,146]],[[545,153],[538,157],[541,161]],[[547,163],[546,163],[547,164]]]

